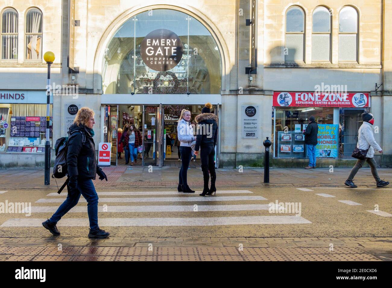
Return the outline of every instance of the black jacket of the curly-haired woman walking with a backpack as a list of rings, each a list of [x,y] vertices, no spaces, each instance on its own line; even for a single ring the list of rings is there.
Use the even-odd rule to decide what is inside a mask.
[[[95,179],[100,169],[96,163],[95,144],[90,129],[80,124],[69,127],[67,167],[70,180]],[[83,144],[83,138],[85,143]]]

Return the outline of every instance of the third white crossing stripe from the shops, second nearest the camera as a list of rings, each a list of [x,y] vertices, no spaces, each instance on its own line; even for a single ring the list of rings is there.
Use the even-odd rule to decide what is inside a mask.
[[[247,205],[155,205],[155,206],[99,206],[98,212],[205,212],[205,211],[249,211],[269,210],[269,204]],[[103,209],[105,208],[105,210]],[[275,207],[276,209],[279,206]],[[58,206],[32,206],[31,213],[56,212]],[[28,211],[27,211],[28,212]],[[75,206],[68,213],[87,212],[87,206]],[[24,213],[22,211],[22,213]],[[294,212],[293,212],[294,213]]]

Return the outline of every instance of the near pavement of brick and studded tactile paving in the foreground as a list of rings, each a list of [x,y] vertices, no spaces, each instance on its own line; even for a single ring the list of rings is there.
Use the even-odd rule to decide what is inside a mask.
[[[392,238],[0,238],[0,261],[392,261]]]

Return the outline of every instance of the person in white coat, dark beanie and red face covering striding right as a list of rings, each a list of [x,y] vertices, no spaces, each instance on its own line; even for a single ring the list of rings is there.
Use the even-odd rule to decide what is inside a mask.
[[[361,150],[368,149],[368,152],[366,154],[366,160],[358,159],[357,163],[355,163],[354,167],[351,170],[350,175],[348,176],[345,182],[345,185],[352,188],[357,187],[357,185],[355,185],[352,180],[354,179],[354,176],[357,174],[358,170],[362,167],[362,165],[365,164],[365,162],[367,162],[371,168],[372,175],[376,180],[377,187],[387,186],[389,182],[380,179],[377,173],[377,163],[376,160],[374,160],[373,158],[374,150],[377,150],[380,153],[383,152],[383,149],[381,149],[380,145],[378,145],[376,140],[374,139],[373,127],[372,127],[374,124],[373,114],[363,113],[361,116],[362,116],[363,123],[358,130],[357,147],[358,149]]]

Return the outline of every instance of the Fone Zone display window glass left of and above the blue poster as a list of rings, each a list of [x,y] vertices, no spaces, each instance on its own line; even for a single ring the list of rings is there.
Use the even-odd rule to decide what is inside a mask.
[[[274,124],[274,135],[272,135],[274,157],[307,157],[303,130],[309,124],[310,116],[314,116],[318,124],[333,124],[334,108],[292,107],[274,110],[272,118]]]

